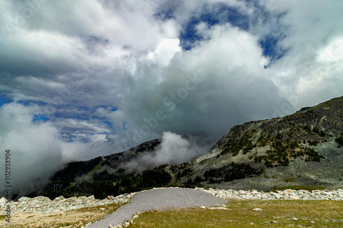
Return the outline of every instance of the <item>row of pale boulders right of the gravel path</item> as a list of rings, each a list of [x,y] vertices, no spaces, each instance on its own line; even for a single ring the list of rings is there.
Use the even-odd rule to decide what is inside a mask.
[[[307,190],[276,190],[275,192],[258,192],[257,190],[219,190],[209,188],[196,188],[196,190],[202,190],[208,192],[215,197],[221,199],[301,199],[301,200],[343,200],[343,190],[314,190],[309,192]]]

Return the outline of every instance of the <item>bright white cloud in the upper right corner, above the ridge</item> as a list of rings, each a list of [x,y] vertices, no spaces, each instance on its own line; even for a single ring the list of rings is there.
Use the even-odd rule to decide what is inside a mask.
[[[343,35],[338,26],[343,23],[338,16],[342,8],[342,1],[280,1],[273,5],[272,12],[286,12],[279,20],[285,26],[280,43],[287,53],[270,66],[266,76],[283,97],[298,98],[287,114],[342,96],[338,53]]]

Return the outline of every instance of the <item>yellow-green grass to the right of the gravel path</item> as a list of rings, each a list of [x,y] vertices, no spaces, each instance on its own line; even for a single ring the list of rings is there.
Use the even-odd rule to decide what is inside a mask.
[[[262,211],[252,210],[257,207]],[[343,203],[340,201],[230,200],[226,208],[228,210],[188,208],[147,212],[136,218],[129,227],[343,226]],[[292,220],[294,217],[298,220]],[[277,224],[272,224],[271,221],[276,221]]]

